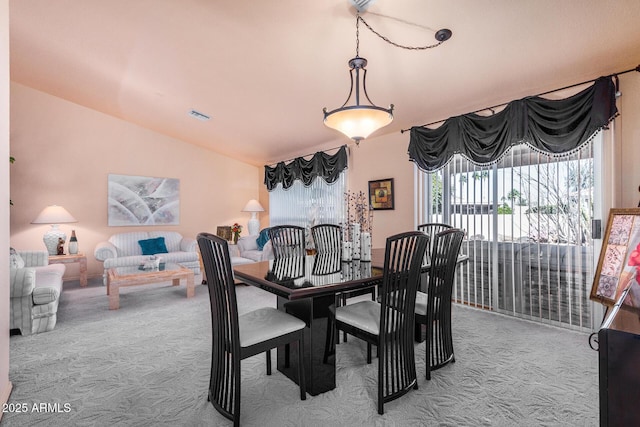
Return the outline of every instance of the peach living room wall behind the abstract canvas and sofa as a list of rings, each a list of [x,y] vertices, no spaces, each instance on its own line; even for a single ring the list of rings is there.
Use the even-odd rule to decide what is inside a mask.
[[[31,221],[45,206],[62,205],[78,220],[61,228],[67,235],[76,230],[90,277],[102,274],[96,244],[114,233],[163,229],[195,238],[218,225],[246,226],[249,215],[240,210],[258,197],[255,166],[16,83],[11,118],[11,245],[44,249],[49,226]],[[179,179],[180,225],[107,226],[110,173]],[[68,264],[65,277],[78,275],[77,265]]]

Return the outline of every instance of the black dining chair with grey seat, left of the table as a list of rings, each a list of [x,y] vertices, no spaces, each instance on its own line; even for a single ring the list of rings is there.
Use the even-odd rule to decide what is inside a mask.
[[[211,303],[212,354],[208,400],[218,412],[240,425],[240,361],[266,352],[271,375],[271,349],[298,346],[300,399],[306,399],[303,348],[305,323],[272,307],[238,315],[236,288],[227,242],[210,233],[197,237],[207,272]]]

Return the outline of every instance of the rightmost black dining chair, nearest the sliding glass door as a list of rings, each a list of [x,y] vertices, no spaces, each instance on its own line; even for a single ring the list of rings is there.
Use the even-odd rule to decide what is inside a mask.
[[[425,325],[426,377],[431,371],[455,362],[451,334],[451,294],[464,231],[450,228],[432,236],[433,252],[426,293],[416,293],[416,327]]]

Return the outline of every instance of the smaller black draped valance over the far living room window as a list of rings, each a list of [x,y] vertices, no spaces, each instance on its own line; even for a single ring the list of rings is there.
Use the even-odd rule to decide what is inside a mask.
[[[296,179],[306,186],[311,185],[316,177],[321,177],[328,184],[335,182],[340,172],[347,168],[347,146],[340,147],[337,153],[329,155],[322,151],[317,152],[309,160],[297,157],[285,164],[278,163],[275,167],[264,167],[264,184],[271,191],[279,183],[287,189],[293,185]]]

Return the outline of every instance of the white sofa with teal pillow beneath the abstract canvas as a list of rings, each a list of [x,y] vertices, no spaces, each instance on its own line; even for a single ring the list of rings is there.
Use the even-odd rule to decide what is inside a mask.
[[[149,261],[151,257],[160,257],[164,262],[180,264],[192,269],[194,274],[200,274],[198,243],[195,239],[182,237],[176,231],[132,231],[114,234],[108,241],[96,245],[93,256],[103,263],[102,278],[105,285],[107,271],[110,268],[140,265]]]

